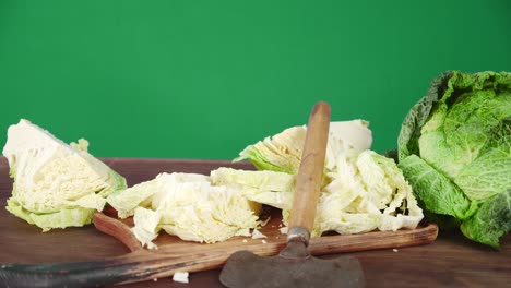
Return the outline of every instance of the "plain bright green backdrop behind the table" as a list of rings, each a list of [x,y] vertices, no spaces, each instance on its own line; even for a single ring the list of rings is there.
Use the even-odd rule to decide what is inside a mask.
[[[21,118],[100,157],[231,159],[307,122],[370,122],[373,147],[445,70],[511,70],[488,1],[0,1],[0,142]]]

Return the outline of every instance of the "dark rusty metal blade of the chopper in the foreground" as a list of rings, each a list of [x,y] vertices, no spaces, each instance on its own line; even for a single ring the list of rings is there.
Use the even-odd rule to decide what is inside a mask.
[[[227,287],[364,287],[357,259],[285,259],[258,256],[249,251],[234,253],[222,269]]]

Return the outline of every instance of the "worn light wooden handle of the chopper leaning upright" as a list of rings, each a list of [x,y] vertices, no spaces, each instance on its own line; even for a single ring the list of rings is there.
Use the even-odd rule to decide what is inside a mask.
[[[309,233],[312,230],[323,176],[329,128],[330,105],[319,101],[314,105],[307,125],[307,135],[289,216],[289,229],[304,227]]]

